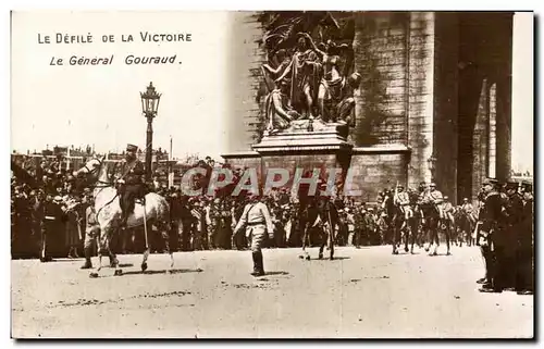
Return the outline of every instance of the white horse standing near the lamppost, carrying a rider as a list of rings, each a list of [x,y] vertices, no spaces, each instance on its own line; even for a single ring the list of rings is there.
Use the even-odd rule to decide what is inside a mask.
[[[95,212],[97,214],[97,222],[100,226],[100,238],[98,249],[98,269],[96,273],[91,273],[91,277],[98,277],[98,273],[102,267],[102,253],[106,251],[110,257],[114,254],[111,252],[110,242],[113,233],[119,228],[121,222],[121,204],[118,190],[109,178],[108,169],[109,164],[104,162],[104,158],[92,158],[82,169],[74,173],[75,176],[86,174],[92,183],[95,190],[92,196],[95,198]],[[89,183],[90,185],[90,183]],[[136,202],[134,212],[128,215],[126,221],[126,228],[135,228],[144,225],[146,238],[146,251],[141,261],[141,271],[147,270],[147,259],[149,257],[150,247],[148,242],[148,227],[152,223],[160,232],[164,239],[168,253],[170,254],[170,269],[174,266],[174,257],[170,249],[169,244],[169,220],[170,207],[163,197],[158,194],[149,192],[145,197],[145,204]],[[113,258],[115,273],[121,275],[123,272],[119,267],[119,262]]]

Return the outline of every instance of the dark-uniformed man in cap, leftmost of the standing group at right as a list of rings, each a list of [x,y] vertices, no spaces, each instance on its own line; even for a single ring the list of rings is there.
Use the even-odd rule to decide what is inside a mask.
[[[502,292],[504,289],[504,226],[503,204],[498,182],[487,178],[483,182],[485,192],[480,229],[482,254],[486,266],[486,283],[481,292]]]

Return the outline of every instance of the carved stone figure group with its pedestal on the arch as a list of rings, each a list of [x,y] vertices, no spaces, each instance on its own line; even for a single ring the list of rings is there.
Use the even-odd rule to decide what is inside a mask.
[[[272,21],[262,38],[263,133],[246,165],[262,174],[271,167],[336,167],[345,175],[361,76],[353,71],[353,38],[343,38],[341,29],[329,12],[280,13]],[[224,158],[233,162],[235,155]]]

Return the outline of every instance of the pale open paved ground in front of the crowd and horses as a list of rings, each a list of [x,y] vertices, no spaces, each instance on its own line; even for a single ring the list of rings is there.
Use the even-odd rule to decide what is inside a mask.
[[[531,337],[533,297],[480,294],[478,248],[453,255],[392,255],[390,247],[339,248],[304,261],[264,251],[121,255],[123,276],[89,278],[82,260],[12,262],[13,337]],[[317,257],[317,249],[312,249]],[[95,259],[96,260],[96,259]],[[94,261],[95,261],[94,260]]]

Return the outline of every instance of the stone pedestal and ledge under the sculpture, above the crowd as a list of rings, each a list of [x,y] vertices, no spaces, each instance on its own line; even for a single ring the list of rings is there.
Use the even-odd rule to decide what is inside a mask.
[[[410,159],[410,150],[405,146],[354,148],[332,128],[264,136],[251,148],[252,151],[224,154],[223,158],[234,169],[257,169],[261,185],[270,169],[289,172],[285,187],[293,186],[297,169],[305,172],[320,169],[323,178],[327,178],[331,169],[338,169],[337,184],[344,182],[350,170],[350,189],[358,191],[356,199],[366,202],[375,201],[383,188],[392,188],[396,183],[405,184]]]

